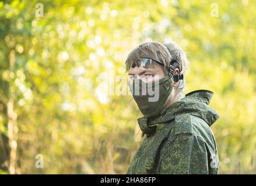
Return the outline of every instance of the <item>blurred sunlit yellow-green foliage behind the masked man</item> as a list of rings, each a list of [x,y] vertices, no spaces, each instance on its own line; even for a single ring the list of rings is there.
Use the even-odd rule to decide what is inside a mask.
[[[43,3],[43,17],[35,15],[36,3]],[[220,173],[255,174],[255,5],[0,1],[0,173],[9,173],[8,102],[17,116],[15,173],[126,173],[142,141],[141,113],[131,96],[100,89],[99,77],[125,75],[128,53],[142,42],[173,39],[189,59],[186,93],[215,92]],[[35,167],[37,154],[43,169]]]

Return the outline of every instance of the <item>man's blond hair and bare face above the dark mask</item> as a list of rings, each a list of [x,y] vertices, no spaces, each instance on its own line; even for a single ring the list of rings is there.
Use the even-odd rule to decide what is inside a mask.
[[[169,49],[166,47],[168,45]],[[142,58],[156,59],[163,63],[159,65],[153,63],[152,67],[142,67]],[[159,78],[168,76],[167,68],[170,65],[171,60],[177,60],[180,62],[180,69],[176,68],[174,74],[184,74],[187,68],[187,57],[185,52],[178,47],[178,45],[171,41],[169,44],[160,44],[159,42],[146,42],[139,45],[129,53],[128,58],[125,62],[126,70],[128,71],[129,78],[141,78],[143,81],[156,80],[156,75]],[[185,80],[180,80],[177,83],[173,83],[173,90],[176,93],[185,91]]]

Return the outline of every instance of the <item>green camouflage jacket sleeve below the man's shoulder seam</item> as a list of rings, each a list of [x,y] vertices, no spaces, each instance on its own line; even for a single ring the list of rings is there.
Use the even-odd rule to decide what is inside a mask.
[[[209,174],[206,144],[193,134],[169,138],[160,150],[160,174]]]

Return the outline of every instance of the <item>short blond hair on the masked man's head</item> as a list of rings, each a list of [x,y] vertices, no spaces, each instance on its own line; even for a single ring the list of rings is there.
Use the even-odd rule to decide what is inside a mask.
[[[169,49],[165,46],[167,45]],[[169,51],[170,50],[170,51]],[[129,53],[125,62],[126,70],[131,67],[141,65],[142,58],[152,58],[163,63],[164,73],[168,74],[167,68],[170,61],[175,59],[180,62],[180,73],[184,74],[187,69],[187,56],[185,52],[178,47],[176,42],[171,41],[168,44],[160,44],[159,42],[146,42],[139,45]],[[185,90],[185,79],[179,81],[178,92]]]

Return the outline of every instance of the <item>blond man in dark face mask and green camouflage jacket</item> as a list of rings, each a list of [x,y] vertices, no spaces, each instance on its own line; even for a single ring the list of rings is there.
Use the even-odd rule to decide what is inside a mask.
[[[184,95],[185,53],[174,42],[147,42],[129,53],[125,63],[129,89],[144,115],[138,124],[146,134],[128,174],[217,174],[210,126],[219,116],[208,106],[213,92]]]

